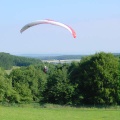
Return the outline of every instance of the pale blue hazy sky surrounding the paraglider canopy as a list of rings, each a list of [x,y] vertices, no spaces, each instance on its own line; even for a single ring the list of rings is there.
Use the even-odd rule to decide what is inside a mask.
[[[53,25],[27,23],[52,19],[71,26],[77,37]],[[120,0],[1,0],[0,52],[10,54],[120,53]]]

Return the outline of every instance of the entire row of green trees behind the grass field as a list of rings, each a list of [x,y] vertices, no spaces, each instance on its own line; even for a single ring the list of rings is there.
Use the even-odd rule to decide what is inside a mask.
[[[0,68],[0,102],[61,105],[120,105],[120,58],[96,53],[71,64]]]

